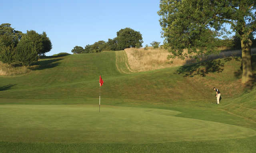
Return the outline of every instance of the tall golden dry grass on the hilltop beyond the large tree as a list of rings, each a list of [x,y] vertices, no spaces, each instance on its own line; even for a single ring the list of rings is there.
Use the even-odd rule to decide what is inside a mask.
[[[162,48],[128,48],[124,49],[124,51],[127,54],[128,64],[134,72],[150,71],[167,67],[177,67],[198,62],[195,59],[186,58],[184,60],[174,59],[172,60],[173,63],[170,63],[170,60],[167,59],[170,53],[168,52],[168,50]],[[256,53],[256,48],[252,49],[252,53]],[[241,50],[223,51],[218,55],[210,55],[208,57],[204,57],[201,59],[201,61],[219,59],[230,56],[241,56]]]

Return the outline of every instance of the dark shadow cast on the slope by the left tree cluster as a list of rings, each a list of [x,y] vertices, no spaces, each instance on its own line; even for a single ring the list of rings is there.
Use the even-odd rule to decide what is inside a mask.
[[[50,60],[43,60],[43,61],[38,61],[32,65],[29,69],[31,70],[43,70],[43,69],[50,69],[53,67],[56,67],[60,64],[60,61],[62,59],[50,59]],[[34,67],[33,67],[34,66]]]

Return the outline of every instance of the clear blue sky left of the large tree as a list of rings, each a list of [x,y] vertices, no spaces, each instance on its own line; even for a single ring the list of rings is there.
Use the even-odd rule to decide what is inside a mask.
[[[145,46],[160,41],[160,0],[4,0],[0,24],[26,33],[46,32],[52,50],[46,55],[71,53],[74,46],[108,41],[125,27],[140,31]]]

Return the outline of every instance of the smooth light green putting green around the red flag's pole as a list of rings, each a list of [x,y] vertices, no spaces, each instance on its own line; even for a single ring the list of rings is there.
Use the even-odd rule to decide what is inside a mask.
[[[244,138],[256,131],[175,117],[180,112],[89,105],[1,105],[0,141],[164,143]]]

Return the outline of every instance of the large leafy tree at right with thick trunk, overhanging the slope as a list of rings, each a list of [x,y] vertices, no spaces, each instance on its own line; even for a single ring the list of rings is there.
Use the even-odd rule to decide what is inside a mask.
[[[250,34],[256,31],[255,0],[160,0],[160,26],[171,58],[217,53],[217,37],[231,32],[240,38],[242,83],[252,78]],[[188,49],[185,53],[184,49]]]

